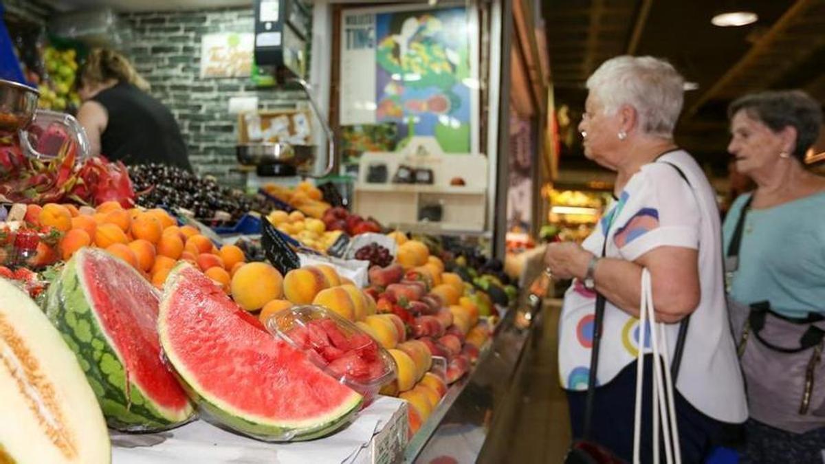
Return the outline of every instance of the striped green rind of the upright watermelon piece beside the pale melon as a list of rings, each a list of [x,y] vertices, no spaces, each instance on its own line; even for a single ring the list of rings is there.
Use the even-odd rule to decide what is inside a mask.
[[[126,380],[123,357],[101,329],[99,316],[89,303],[92,298],[78,275],[86,253],[105,252],[82,249],[75,253],[50,286],[46,315],[78,357],[106,423],[125,432],[156,432],[191,421],[195,418],[191,404],[179,410],[164,408],[150,400],[134,378]],[[108,254],[107,257],[119,259]],[[130,270],[127,272],[136,272],[123,263]]]

